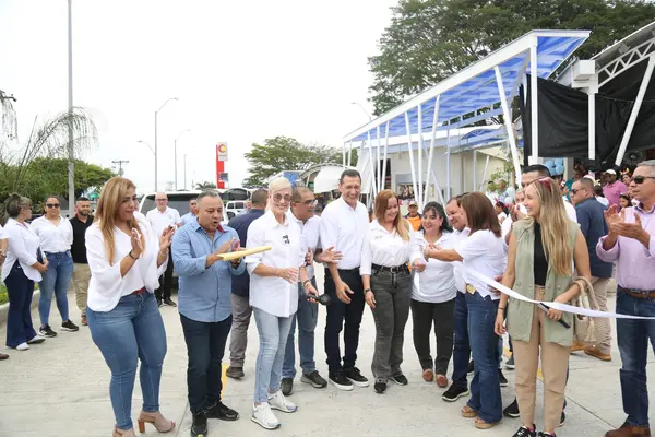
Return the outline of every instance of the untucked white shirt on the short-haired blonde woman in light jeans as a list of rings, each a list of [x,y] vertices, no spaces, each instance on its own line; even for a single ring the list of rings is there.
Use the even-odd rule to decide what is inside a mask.
[[[281,224],[272,211],[248,227],[247,248],[271,246],[271,250],[246,257],[250,273],[250,306],[277,317],[290,317],[298,310],[298,284],[276,276],[254,273],[259,264],[277,269],[298,269],[305,265],[300,228],[285,215]]]

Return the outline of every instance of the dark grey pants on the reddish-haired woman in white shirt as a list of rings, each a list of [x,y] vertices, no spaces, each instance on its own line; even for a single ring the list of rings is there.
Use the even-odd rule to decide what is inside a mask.
[[[393,281],[395,276],[395,283]],[[405,324],[409,318],[412,276],[408,273],[389,272],[371,275],[371,290],[376,295],[376,351],[371,371],[377,381],[386,381],[391,376],[402,374],[403,342]]]

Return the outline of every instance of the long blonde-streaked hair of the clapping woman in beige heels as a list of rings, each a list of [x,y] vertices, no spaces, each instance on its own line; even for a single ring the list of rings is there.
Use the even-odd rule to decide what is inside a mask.
[[[116,217],[118,215],[118,208],[122,204],[128,190],[135,189],[136,186],[132,184],[130,179],[121,178],[119,176],[114,177],[105,184],[103,191],[100,191],[100,199],[98,200],[98,209],[95,213],[94,222],[98,223],[100,231],[103,232],[103,239],[105,240],[105,250],[107,258],[109,259],[109,265],[114,265],[114,253],[116,252],[116,241],[114,240],[114,228],[116,227]],[[130,202],[132,199],[130,199]],[[141,234],[141,244],[143,250],[145,250],[145,238],[139,221],[134,217],[128,221],[130,228],[135,227]]]

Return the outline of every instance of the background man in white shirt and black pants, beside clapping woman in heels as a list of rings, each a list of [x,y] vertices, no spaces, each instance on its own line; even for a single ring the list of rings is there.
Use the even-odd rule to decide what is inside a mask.
[[[157,208],[147,212],[145,217],[150,222],[155,235],[162,235],[164,231],[170,226],[180,227],[182,220],[180,213],[174,208],[168,208],[168,196],[165,192],[158,192],[155,194],[155,202]],[[157,305],[163,304],[171,307],[177,307],[177,304],[170,298],[170,290],[172,288],[172,255],[170,247],[168,248],[168,265],[166,272],[159,277],[159,288],[155,291],[155,297],[157,298]]]

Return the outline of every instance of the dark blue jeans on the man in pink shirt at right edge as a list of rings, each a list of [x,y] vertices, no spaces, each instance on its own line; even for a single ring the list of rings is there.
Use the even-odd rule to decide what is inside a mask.
[[[655,299],[638,299],[619,291],[617,314],[655,316]],[[621,395],[623,411],[632,426],[648,426],[646,358],[648,341],[655,349],[655,320],[617,319],[617,340],[621,353]]]

